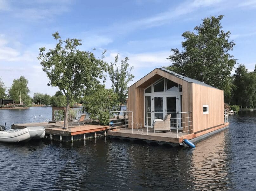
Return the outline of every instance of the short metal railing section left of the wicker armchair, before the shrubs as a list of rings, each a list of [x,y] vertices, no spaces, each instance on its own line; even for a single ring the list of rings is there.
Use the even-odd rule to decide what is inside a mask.
[[[132,111],[110,111],[109,131],[113,128],[131,129],[133,133],[133,112]]]

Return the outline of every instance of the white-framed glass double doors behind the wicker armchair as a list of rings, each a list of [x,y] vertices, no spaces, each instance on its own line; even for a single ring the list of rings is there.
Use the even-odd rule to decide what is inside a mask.
[[[164,119],[171,113],[170,127],[177,127],[177,114],[181,111],[180,96],[145,96],[145,124],[152,127],[154,119]],[[151,112],[151,113],[149,113]]]

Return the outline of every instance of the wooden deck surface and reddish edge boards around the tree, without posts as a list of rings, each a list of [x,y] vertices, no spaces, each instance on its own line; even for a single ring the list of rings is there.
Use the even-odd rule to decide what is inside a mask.
[[[72,136],[72,135],[79,135],[79,134],[87,134],[87,133],[94,133],[94,132],[100,132],[100,131],[107,131],[108,126],[103,125],[81,125],[80,127],[78,125],[69,126],[68,129],[63,129],[63,121],[61,122],[61,125],[57,123],[56,125],[47,126],[47,122],[41,122],[41,123],[23,123],[23,124],[13,124],[13,129],[21,129],[26,127],[35,127],[35,126],[43,126],[45,128],[46,134],[59,134],[62,136]]]

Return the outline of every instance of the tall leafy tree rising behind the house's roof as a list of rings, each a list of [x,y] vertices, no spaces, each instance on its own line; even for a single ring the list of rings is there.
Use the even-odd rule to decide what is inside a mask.
[[[220,24],[223,15],[203,19],[195,32],[182,34],[184,50],[171,49],[168,59],[172,64],[167,69],[202,81],[224,90],[230,96],[232,89],[231,71],[236,60],[229,54],[235,43],[229,41],[230,31],[224,32]]]

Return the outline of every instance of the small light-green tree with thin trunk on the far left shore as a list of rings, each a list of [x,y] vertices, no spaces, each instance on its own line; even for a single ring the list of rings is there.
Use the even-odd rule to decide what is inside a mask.
[[[10,87],[10,97],[19,102],[19,105],[21,105],[21,101],[25,100],[25,98],[28,96],[28,93],[30,93],[28,83],[29,81],[24,76],[20,76],[19,79],[13,80],[13,83]]]

